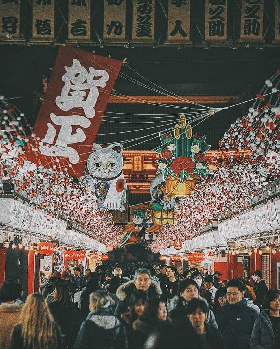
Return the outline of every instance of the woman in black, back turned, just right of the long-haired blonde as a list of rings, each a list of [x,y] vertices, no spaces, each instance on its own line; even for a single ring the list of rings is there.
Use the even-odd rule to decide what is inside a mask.
[[[51,314],[65,335],[64,347],[73,348],[81,325],[81,312],[77,304],[71,302],[69,287],[65,283],[56,285],[55,298],[49,304]]]

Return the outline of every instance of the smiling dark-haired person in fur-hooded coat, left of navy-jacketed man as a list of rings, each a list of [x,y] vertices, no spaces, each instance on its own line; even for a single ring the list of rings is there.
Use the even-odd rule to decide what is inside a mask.
[[[194,280],[186,279],[180,283],[177,296],[174,296],[171,299],[171,302],[167,305],[168,316],[170,317],[172,324],[179,331],[184,331],[186,327],[190,325],[187,317],[186,307],[188,302],[194,298],[198,298],[207,303],[206,300],[199,295],[198,284]],[[212,310],[209,310],[208,312],[206,324],[218,328]]]

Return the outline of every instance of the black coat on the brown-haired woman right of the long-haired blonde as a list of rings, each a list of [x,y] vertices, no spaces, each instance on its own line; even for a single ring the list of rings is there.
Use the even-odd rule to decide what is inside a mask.
[[[65,348],[73,348],[73,343],[81,326],[81,312],[77,304],[70,303],[69,306],[60,302],[51,302],[49,304],[50,312],[56,323],[60,326],[62,334],[65,335]]]

